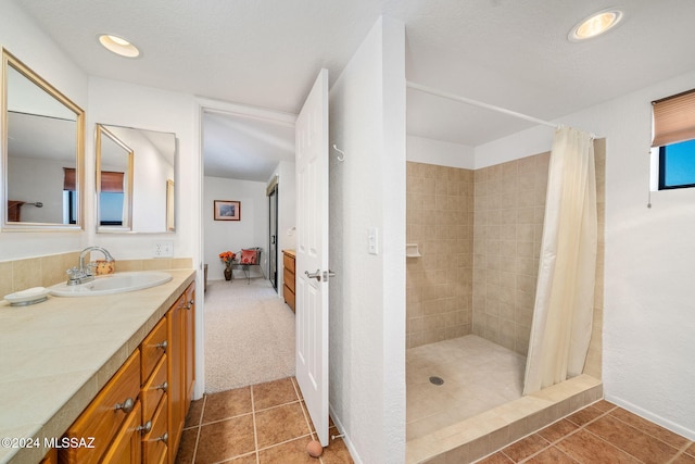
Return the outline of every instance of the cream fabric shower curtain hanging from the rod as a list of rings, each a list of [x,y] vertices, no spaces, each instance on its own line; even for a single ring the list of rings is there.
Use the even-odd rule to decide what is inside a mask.
[[[596,273],[593,136],[556,129],[523,394],[582,373],[592,330]]]

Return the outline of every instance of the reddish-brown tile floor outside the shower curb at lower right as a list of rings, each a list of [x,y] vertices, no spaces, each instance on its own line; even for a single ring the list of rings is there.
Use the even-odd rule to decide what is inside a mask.
[[[695,464],[695,443],[602,400],[478,463]]]

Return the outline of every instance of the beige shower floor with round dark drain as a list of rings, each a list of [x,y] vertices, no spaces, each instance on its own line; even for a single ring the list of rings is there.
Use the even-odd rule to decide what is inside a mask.
[[[410,348],[406,360],[407,440],[521,398],[526,356],[475,335]]]

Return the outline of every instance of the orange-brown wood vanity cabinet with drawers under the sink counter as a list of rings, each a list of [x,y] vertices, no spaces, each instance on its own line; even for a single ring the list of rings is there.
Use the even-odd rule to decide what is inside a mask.
[[[93,437],[93,448],[59,449],[59,463],[175,462],[193,397],[194,306],[192,283],[63,436]]]

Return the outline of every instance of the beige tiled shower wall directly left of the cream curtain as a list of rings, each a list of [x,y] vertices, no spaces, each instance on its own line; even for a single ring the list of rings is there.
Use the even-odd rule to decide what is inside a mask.
[[[472,333],[526,355],[549,153],[475,173]]]

